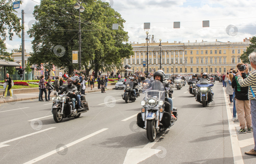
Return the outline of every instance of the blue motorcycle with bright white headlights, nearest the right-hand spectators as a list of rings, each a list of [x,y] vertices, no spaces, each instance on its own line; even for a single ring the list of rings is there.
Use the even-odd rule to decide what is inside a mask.
[[[195,97],[196,101],[203,104],[203,107],[205,107],[213,100],[213,84],[207,79],[202,78],[197,82],[196,87],[198,90],[197,95]]]

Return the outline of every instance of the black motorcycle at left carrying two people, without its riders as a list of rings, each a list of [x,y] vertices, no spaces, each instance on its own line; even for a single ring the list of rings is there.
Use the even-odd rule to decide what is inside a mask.
[[[63,120],[63,118],[75,117],[78,118],[82,113],[85,113],[89,110],[88,102],[85,99],[85,95],[81,95],[81,110],[75,110],[78,108],[76,103],[75,108],[73,103],[71,102],[70,95],[73,94],[73,90],[67,93],[63,93],[62,95],[56,95],[56,97],[52,97],[52,114],[55,122],[59,123]]]

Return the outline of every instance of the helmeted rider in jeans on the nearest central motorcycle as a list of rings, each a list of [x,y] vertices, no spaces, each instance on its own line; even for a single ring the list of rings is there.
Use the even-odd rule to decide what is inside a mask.
[[[162,71],[156,71],[154,73],[154,79],[161,81],[165,90],[169,87],[168,83],[163,82],[164,74],[162,73]],[[167,99],[167,102],[170,104],[170,109],[169,109],[170,111],[166,111],[166,112],[169,112],[171,114],[172,120],[177,120],[177,118],[173,114],[173,100],[170,97],[166,97],[166,99]]]

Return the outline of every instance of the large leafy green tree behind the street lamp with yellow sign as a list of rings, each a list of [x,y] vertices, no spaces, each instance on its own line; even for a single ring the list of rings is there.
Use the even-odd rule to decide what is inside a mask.
[[[102,1],[83,1],[85,11],[81,13],[82,69],[113,69],[120,67],[124,57],[133,55],[128,41],[128,33],[123,30],[124,19]],[[34,37],[34,50],[29,58],[31,64],[41,63],[48,69],[53,65],[69,70],[78,68],[72,63],[72,50],[78,50],[78,10],[74,9],[76,0],[41,0],[35,6],[34,16],[37,22],[28,31]],[[112,30],[112,23],[119,23],[119,30]],[[65,54],[59,57],[53,53],[56,45],[64,47]],[[60,49],[58,51],[60,53]],[[97,75],[97,74],[95,74]]]

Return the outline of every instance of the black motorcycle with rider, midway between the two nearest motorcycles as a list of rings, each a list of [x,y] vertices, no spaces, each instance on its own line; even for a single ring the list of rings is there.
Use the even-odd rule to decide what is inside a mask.
[[[122,94],[125,103],[134,102],[136,100],[136,95],[133,93],[133,81],[131,79],[126,79],[125,81],[125,93]]]

